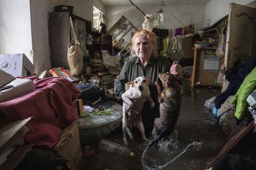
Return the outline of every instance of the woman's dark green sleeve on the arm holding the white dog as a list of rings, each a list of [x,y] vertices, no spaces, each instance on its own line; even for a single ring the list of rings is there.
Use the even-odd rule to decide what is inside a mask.
[[[124,64],[120,74],[117,76],[114,86],[116,87],[115,95],[118,96],[118,100],[121,98],[121,94],[125,92],[125,83],[128,82],[127,75],[127,62]]]

